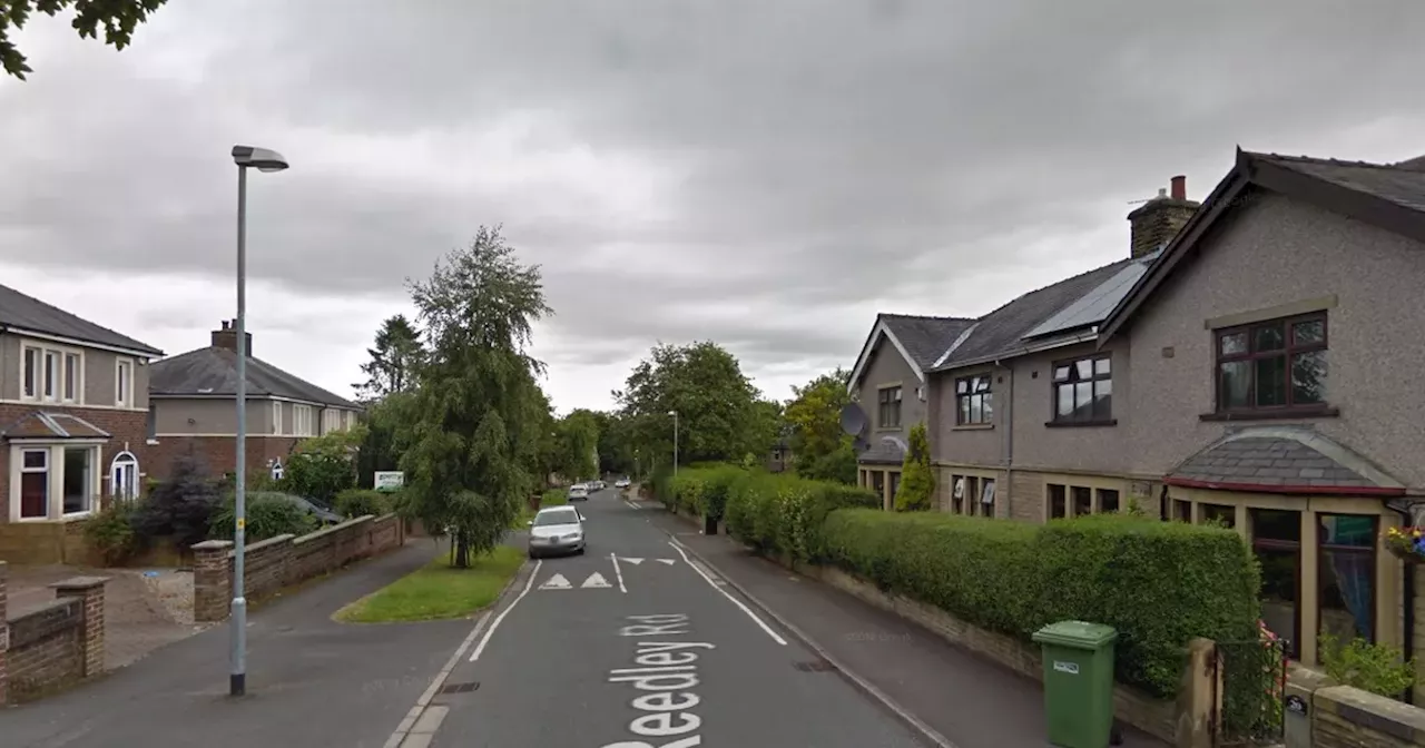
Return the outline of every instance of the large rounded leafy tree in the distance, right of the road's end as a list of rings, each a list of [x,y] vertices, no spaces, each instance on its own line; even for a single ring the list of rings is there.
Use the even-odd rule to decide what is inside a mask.
[[[656,345],[613,395],[644,460],[673,462],[673,410],[680,464],[741,462],[750,452],[762,459],[771,447],[758,427],[757,388],[737,356],[711,341]]]

